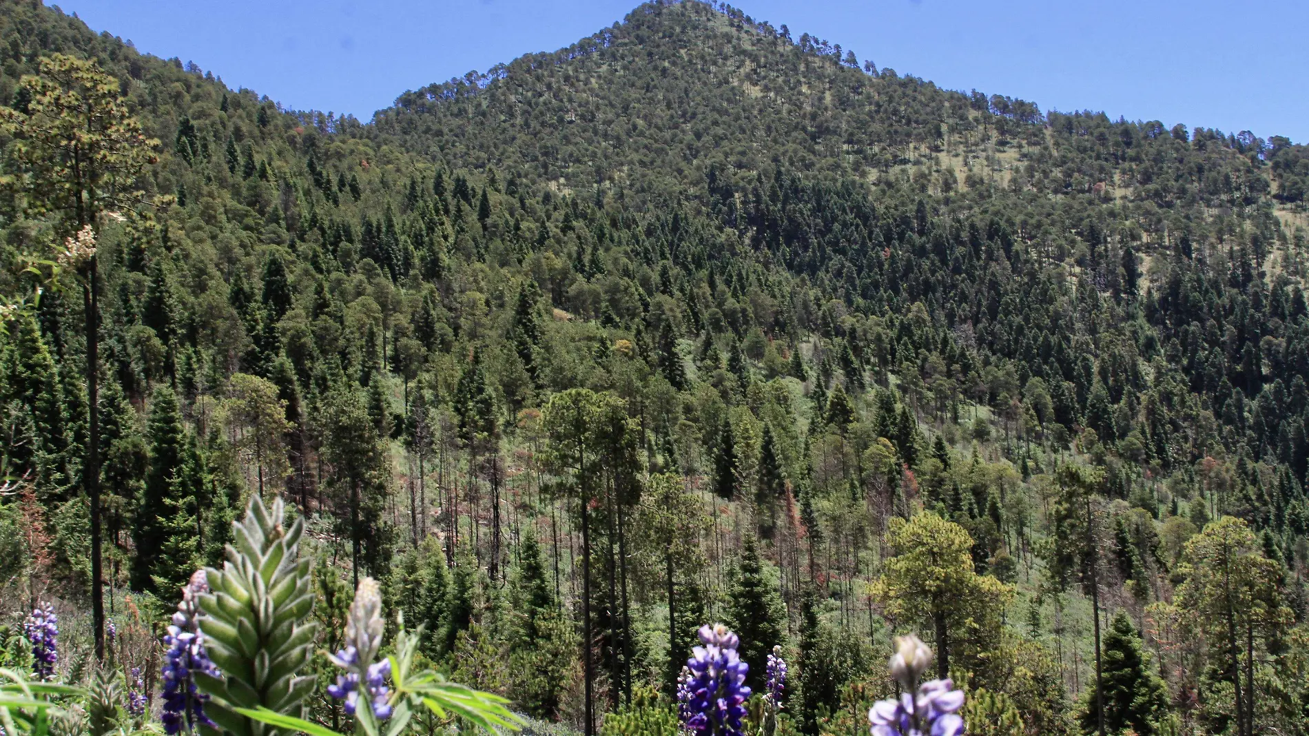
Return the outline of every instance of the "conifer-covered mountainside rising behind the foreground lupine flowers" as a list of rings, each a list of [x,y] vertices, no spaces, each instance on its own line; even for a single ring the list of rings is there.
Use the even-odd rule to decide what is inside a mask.
[[[789,663],[770,733],[864,732],[906,633],[971,733],[1309,729],[1304,147],[691,0],[367,123],[39,3],[0,26],[0,664],[89,684],[63,732],[196,726],[173,663],[229,543],[305,561],[297,647],[350,644],[374,578],[394,651],[533,732],[677,732],[715,622],[757,693]],[[89,100],[90,174],[41,145]],[[258,703],[364,723],[308,651]]]

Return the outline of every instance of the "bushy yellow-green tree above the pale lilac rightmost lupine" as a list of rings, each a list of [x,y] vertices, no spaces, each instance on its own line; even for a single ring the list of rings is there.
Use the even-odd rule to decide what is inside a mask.
[[[937,673],[946,677],[952,657],[967,667],[1000,640],[1001,614],[1013,587],[978,575],[973,537],[932,512],[908,521],[893,519],[885,572],[873,585],[897,629],[932,631]]]

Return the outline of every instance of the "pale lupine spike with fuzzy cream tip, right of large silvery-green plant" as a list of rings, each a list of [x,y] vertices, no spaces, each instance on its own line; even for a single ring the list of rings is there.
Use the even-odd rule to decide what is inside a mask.
[[[346,671],[336,676],[336,684],[327,686],[327,694],[338,701],[346,701],[346,712],[355,715],[359,708],[360,682],[365,690],[373,716],[386,720],[391,716],[387,703],[390,690],[386,678],[391,674],[391,660],[374,663],[377,651],[382,648],[382,595],[377,580],[364,578],[355,592],[355,602],[350,605],[350,619],[346,623],[346,648],[329,655],[332,664]]]

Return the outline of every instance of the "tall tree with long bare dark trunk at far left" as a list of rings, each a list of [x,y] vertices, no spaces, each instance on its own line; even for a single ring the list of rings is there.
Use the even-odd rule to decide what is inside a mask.
[[[158,141],[145,138],[119,96],[118,80],[94,62],[54,54],[41,60],[38,75],[20,80],[25,105],[0,106],[0,132],[13,138],[10,169],[0,177],[21,198],[29,216],[51,216],[60,237],[77,233],[82,248],[69,249],[82,271],[86,330],[86,462],[82,482],[90,500],[92,621],[96,656],[105,652],[105,608],[101,563],[99,423],[99,297],[94,228],[106,210],[131,210],[139,193],[134,185]],[[72,241],[71,241],[72,242]]]

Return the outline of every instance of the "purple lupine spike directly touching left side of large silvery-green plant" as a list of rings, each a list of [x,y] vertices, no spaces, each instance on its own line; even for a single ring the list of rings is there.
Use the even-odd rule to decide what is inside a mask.
[[[204,715],[204,703],[209,697],[199,691],[192,676],[194,672],[213,677],[221,674],[204,652],[204,638],[196,619],[200,596],[207,592],[209,583],[204,571],[196,570],[191,581],[182,588],[182,602],[177,604],[173,623],[164,636],[168,652],[164,653],[164,712],[160,720],[165,733],[191,732],[200,724],[213,726]]]

